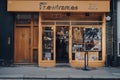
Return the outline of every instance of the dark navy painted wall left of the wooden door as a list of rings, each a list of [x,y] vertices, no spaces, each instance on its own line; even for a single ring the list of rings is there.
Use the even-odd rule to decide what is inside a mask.
[[[0,0],[0,60],[13,60],[13,28],[14,14],[7,12],[7,0]]]

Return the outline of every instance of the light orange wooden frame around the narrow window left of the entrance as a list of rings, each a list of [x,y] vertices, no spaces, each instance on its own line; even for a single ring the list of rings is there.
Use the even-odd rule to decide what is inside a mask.
[[[43,52],[42,52],[42,33],[43,33],[43,29],[44,27],[51,27],[53,28],[53,43],[54,43],[54,49],[53,49],[53,60],[43,60]],[[39,66],[41,67],[53,67],[55,66],[55,63],[56,63],[56,49],[55,49],[55,45],[56,45],[56,38],[55,38],[55,26],[54,25],[42,25],[41,27],[39,27],[39,53],[38,53],[38,63],[39,63]]]

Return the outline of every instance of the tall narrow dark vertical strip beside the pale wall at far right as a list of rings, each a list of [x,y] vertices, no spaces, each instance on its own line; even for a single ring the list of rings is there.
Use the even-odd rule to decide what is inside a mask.
[[[117,66],[117,0],[112,0],[112,25],[113,25],[113,61],[112,66]]]

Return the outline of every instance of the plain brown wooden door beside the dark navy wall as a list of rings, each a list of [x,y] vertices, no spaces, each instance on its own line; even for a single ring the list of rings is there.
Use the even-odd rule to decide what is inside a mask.
[[[15,29],[15,63],[30,62],[30,28],[17,27]]]

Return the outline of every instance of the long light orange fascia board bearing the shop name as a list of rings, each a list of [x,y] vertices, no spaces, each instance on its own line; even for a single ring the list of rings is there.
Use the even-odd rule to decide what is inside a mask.
[[[8,11],[24,12],[109,12],[110,1],[32,1],[32,0],[8,0]]]

